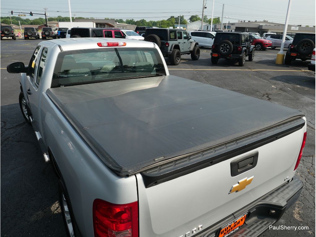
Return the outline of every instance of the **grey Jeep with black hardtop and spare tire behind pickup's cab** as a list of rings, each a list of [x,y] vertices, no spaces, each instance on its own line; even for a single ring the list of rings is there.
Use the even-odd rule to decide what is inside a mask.
[[[182,54],[191,54],[192,60],[200,58],[198,43],[191,40],[185,30],[148,28],[145,41],[156,43],[162,55],[170,59],[171,65],[178,65]]]

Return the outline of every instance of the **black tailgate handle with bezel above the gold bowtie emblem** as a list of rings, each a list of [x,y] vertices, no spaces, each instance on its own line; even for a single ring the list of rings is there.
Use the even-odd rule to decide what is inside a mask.
[[[230,173],[234,177],[244,173],[257,165],[258,151],[242,156],[230,162]]]

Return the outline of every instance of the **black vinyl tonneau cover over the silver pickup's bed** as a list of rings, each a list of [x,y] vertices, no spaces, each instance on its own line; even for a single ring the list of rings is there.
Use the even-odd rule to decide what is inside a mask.
[[[119,176],[304,116],[177,76],[51,88],[47,94]]]

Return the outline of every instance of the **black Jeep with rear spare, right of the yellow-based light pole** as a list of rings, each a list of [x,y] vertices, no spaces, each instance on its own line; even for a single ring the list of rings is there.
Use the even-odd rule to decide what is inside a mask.
[[[292,44],[285,54],[284,64],[290,65],[295,59],[311,60],[315,48],[315,34],[296,33]]]

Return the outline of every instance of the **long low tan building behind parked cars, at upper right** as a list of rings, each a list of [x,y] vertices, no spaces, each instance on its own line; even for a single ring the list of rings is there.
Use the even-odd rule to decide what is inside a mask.
[[[204,25],[203,30],[206,31],[219,31],[221,30],[221,24]],[[283,33],[284,24],[269,22],[269,21],[248,21],[248,22],[235,22],[228,23],[226,29],[226,23],[223,22],[223,31],[229,32],[254,32],[262,35],[263,33]],[[288,25],[287,33],[315,33],[315,27],[303,27],[300,25]]]

